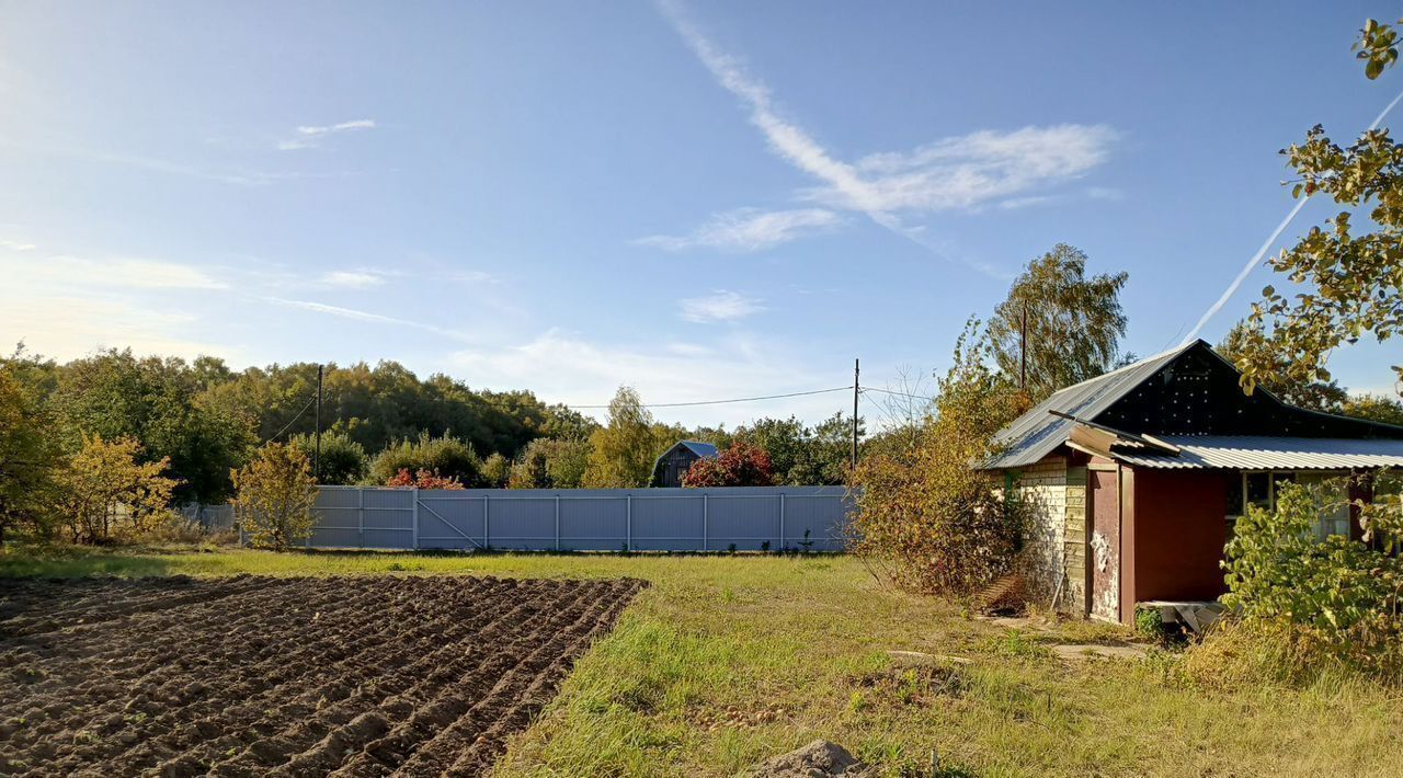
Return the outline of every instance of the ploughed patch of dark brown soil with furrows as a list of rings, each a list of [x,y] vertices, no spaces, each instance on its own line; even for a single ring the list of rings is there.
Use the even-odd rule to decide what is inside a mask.
[[[637,580],[0,580],[0,774],[478,775]]]

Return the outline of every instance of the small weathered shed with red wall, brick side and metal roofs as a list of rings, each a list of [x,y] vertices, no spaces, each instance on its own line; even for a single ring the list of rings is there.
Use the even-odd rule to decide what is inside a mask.
[[[1403,428],[1242,391],[1237,369],[1195,341],[1063,388],[999,433],[986,464],[1031,506],[1034,590],[1058,610],[1131,622],[1139,603],[1223,593],[1223,544],[1247,505],[1284,481],[1403,467]],[[1316,534],[1361,537],[1351,509]]]

